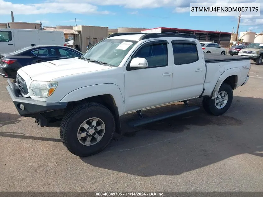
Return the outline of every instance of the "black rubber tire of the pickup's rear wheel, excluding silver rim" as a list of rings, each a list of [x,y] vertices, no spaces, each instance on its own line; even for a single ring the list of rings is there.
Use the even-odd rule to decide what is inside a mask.
[[[221,85],[221,87],[219,88],[219,91],[218,92],[221,92],[221,91],[225,91],[227,94],[228,94],[228,101],[226,103],[226,105],[221,108],[221,109],[218,109],[215,105],[215,99],[211,99],[211,98],[203,98],[203,107],[204,107],[204,110],[209,113],[209,114],[212,114],[212,115],[222,115],[224,114],[228,109],[229,107],[231,106],[231,103],[232,103],[232,100],[233,100],[233,90],[232,90],[232,87],[230,85],[228,85],[227,83],[223,83]]]

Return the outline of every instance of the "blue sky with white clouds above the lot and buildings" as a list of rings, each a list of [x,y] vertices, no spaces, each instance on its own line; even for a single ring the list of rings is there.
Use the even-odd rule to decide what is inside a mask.
[[[36,3],[37,2],[37,3]],[[261,3],[261,16],[242,16],[240,31],[263,31],[262,0],[0,0],[0,23],[42,21],[43,26],[171,27],[232,32],[238,16],[190,16],[190,3]],[[76,20],[76,23],[75,23]]]

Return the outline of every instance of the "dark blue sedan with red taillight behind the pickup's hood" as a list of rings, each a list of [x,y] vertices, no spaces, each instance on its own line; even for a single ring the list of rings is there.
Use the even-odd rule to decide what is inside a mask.
[[[0,75],[15,78],[19,68],[34,63],[81,57],[83,53],[67,46],[35,45],[13,53],[0,54]]]

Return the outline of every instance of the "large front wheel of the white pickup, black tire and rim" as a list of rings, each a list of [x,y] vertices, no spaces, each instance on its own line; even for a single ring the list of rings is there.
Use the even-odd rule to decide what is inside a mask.
[[[60,138],[71,153],[86,157],[106,148],[114,131],[114,116],[108,108],[98,103],[85,103],[63,117]]]

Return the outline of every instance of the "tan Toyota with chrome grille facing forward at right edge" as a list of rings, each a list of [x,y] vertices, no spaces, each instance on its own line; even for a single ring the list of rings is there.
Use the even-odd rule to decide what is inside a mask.
[[[248,57],[256,64],[261,64],[263,59],[263,43],[250,43],[245,49],[241,49],[238,53],[240,57]]]

